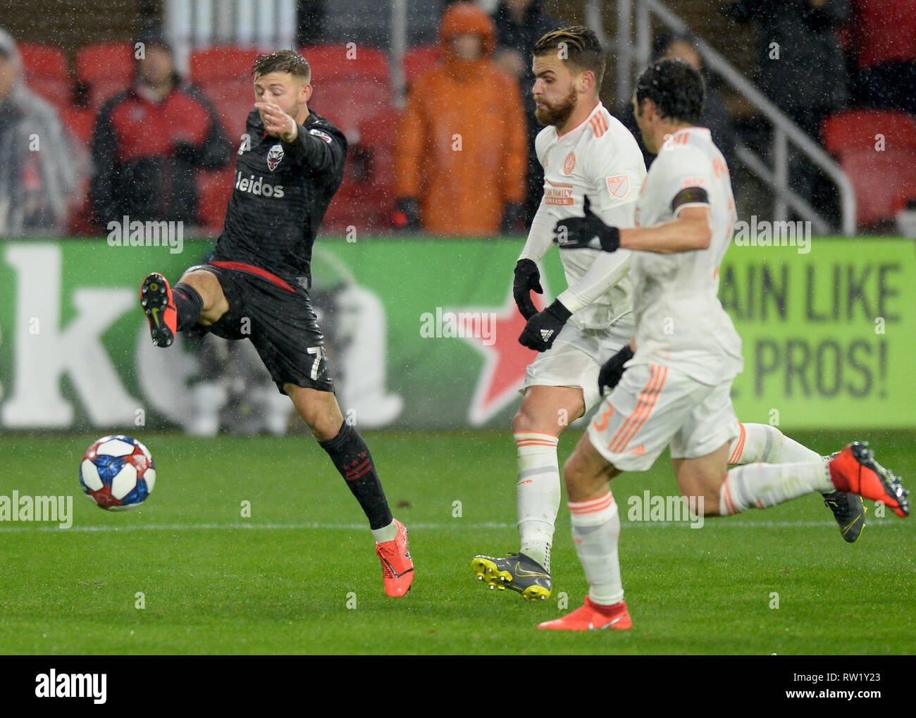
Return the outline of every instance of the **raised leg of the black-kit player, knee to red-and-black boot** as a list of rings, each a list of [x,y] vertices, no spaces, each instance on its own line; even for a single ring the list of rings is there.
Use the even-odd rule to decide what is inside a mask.
[[[200,322],[213,324],[229,310],[219,279],[206,270],[189,270],[174,288],[158,272],[147,275],[140,285],[140,306],[147,315],[153,343],[166,347],[178,332]]]

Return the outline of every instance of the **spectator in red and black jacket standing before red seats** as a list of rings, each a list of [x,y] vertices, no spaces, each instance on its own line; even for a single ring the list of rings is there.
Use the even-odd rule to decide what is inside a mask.
[[[137,44],[136,77],[99,112],[93,133],[92,207],[97,224],[197,224],[196,169],[219,169],[232,146],[202,92],[182,82],[159,36]]]

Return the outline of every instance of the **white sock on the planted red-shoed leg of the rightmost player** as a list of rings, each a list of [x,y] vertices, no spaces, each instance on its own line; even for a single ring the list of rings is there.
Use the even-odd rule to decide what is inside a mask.
[[[608,491],[567,506],[573,519],[573,543],[589,585],[588,597],[595,604],[619,604],[624,600],[624,586],[617,556],[620,515],[614,496]]]

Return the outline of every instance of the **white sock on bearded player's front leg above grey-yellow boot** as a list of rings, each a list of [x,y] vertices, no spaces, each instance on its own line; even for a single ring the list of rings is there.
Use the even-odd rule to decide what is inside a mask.
[[[553,527],[560,510],[560,463],[551,434],[518,431],[518,484],[516,510],[522,553],[551,571]]]

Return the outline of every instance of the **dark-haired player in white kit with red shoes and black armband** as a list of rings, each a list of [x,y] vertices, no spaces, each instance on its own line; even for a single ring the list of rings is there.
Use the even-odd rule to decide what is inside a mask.
[[[829,462],[728,471],[739,426],[730,390],[743,361],[741,339],[716,294],[736,211],[725,160],[709,130],[695,126],[702,108],[703,80],[687,63],[662,60],[645,71],[634,109],[658,158],[639,191],[637,227],[607,226],[586,202],[583,217],[555,228],[564,254],[595,245],[631,250],[637,326],[627,371],[563,467],[573,542],[590,590],[581,608],[540,628],[632,626],[608,481],[649,469],[666,446],[682,495],[697,497],[707,516],[834,490],[883,501],[901,517],[910,512],[908,492],[864,443],[849,444]]]

